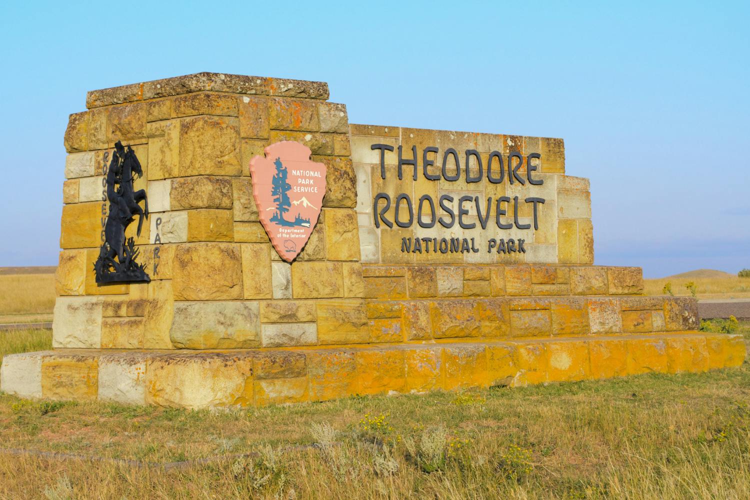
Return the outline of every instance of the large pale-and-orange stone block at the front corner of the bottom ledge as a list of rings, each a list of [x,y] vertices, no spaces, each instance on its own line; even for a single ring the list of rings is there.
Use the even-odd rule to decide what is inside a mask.
[[[146,369],[145,399],[188,409],[251,406],[253,358],[219,352],[154,358]]]

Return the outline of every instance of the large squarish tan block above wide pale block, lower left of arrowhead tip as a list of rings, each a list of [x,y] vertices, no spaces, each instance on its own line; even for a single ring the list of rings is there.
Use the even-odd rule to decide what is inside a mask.
[[[242,298],[241,262],[240,248],[237,244],[178,245],[172,261],[172,289],[175,300],[217,301]],[[269,274],[270,267],[269,265]]]

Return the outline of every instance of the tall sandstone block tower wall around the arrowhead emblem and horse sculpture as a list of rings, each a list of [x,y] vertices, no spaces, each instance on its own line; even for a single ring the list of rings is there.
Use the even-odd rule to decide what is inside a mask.
[[[366,332],[347,110],[328,96],[322,82],[217,73],[89,92],[65,133],[54,346],[241,349]],[[144,171],[134,188],[151,213],[127,236],[151,283],[98,286],[103,173],[118,140]],[[292,265],[261,226],[248,168],[281,140],[328,169],[320,220]]]

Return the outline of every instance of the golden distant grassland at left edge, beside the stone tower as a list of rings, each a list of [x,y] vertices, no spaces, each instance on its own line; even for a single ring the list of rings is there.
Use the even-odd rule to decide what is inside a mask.
[[[52,314],[55,274],[0,274],[0,315]]]

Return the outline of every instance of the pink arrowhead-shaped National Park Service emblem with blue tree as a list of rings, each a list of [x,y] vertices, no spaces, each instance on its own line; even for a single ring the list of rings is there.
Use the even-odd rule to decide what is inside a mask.
[[[310,148],[281,141],[266,146],[266,157],[250,161],[253,196],[279,256],[292,262],[318,222],[326,195],[326,165],[310,159]]]

